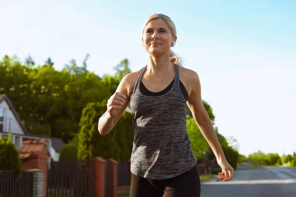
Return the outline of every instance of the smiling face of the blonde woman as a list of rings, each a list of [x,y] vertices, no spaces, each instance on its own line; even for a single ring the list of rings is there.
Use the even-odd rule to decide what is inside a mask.
[[[154,19],[146,25],[142,37],[146,51],[154,56],[161,56],[170,51],[173,46],[173,38],[167,24],[162,19]]]

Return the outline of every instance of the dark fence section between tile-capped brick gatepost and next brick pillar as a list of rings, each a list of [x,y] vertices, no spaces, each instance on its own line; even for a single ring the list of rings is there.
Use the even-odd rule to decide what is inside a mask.
[[[95,197],[94,161],[51,162],[47,197]]]

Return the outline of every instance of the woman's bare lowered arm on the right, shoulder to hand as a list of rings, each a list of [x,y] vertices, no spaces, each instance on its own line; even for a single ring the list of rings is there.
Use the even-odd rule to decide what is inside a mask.
[[[228,181],[233,177],[233,168],[226,161],[221,145],[218,141],[218,137],[209,118],[207,111],[205,110],[201,99],[201,85],[198,74],[190,70],[190,74],[187,79],[190,81],[190,95],[187,100],[187,105],[192,112],[193,118],[202,132],[203,136],[212,148],[217,163],[222,168],[222,172],[219,173],[219,178],[223,181]]]

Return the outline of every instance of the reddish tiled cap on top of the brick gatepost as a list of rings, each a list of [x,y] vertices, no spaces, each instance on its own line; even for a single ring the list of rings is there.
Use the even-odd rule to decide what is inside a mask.
[[[19,149],[21,160],[29,158],[40,153],[45,145],[45,140],[27,140],[23,141],[23,145]],[[45,146],[46,147],[46,146]]]

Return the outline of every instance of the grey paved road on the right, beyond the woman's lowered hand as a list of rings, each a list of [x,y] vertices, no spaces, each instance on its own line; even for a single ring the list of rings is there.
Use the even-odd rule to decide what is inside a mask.
[[[202,183],[201,197],[296,197],[296,168],[236,170],[230,181]]]

